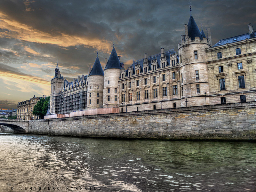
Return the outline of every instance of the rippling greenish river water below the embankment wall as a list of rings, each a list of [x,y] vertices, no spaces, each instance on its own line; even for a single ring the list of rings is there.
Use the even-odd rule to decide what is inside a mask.
[[[256,191],[256,143],[0,134],[1,192],[90,187],[109,192]]]

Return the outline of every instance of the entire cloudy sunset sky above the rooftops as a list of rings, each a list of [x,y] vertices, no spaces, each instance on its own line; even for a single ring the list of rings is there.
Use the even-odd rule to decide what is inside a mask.
[[[255,0],[191,0],[198,27],[211,28],[212,45],[256,29]],[[178,51],[189,0],[1,0],[0,109],[34,95],[50,95],[58,62],[71,81],[88,74],[97,51],[102,67],[113,48],[127,69],[134,60]]]

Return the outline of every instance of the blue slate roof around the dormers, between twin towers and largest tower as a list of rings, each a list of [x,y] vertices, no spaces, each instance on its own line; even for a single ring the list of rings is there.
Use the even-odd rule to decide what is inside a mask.
[[[176,54],[175,51],[172,50],[168,50],[166,52],[164,52],[165,55],[166,55],[166,60],[167,60],[167,63],[166,63],[166,66],[169,66],[171,63],[170,63],[170,54]],[[177,55],[177,54],[176,54]],[[151,71],[152,70],[152,61],[155,60],[157,61],[157,67],[156,68],[161,68],[161,53],[158,53],[156,55],[151,55],[148,57],[148,71]],[[132,67],[132,74],[134,75],[135,74],[135,67],[136,65],[140,65],[140,72],[143,71],[143,63],[144,63],[144,58],[143,59],[139,59],[139,60],[136,60],[136,61],[133,61],[132,65],[130,67]],[[177,61],[176,63],[179,63],[179,57],[177,55]],[[129,67],[129,68],[130,68]],[[125,76],[128,76],[128,69],[125,70]]]

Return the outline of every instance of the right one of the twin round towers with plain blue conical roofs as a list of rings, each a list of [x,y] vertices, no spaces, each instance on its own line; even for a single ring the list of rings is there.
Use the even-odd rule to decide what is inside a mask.
[[[118,80],[121,74],[121,63],[113,46],[104,69],[103,107],[118,107]]]

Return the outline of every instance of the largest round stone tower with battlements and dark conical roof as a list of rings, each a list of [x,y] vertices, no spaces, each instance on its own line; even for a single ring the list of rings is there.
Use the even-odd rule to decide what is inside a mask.
[[[209,105],[209,80],[205,62],[205,49],[209,47],[211,42],[206,38],[203,28],[200,32],[190,14],[188,25],[185,25],[185,35],[181,36],[181,43],[178,44],[181,107],[186,107],[186,104],[188,106]]]

